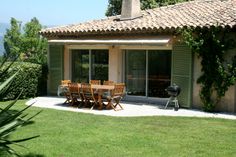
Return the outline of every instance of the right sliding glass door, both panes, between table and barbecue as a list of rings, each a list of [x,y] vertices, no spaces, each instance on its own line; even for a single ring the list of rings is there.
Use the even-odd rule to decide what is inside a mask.
[[[125,82],[128,95],[167,97],[170,85],[171,51],[126,50]]]

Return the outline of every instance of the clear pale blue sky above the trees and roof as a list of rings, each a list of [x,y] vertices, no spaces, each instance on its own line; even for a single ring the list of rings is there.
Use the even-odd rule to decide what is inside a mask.
[[[66,25],[105,17],[108,0],[3,0],[0,23],[36,17],[42,25]]]

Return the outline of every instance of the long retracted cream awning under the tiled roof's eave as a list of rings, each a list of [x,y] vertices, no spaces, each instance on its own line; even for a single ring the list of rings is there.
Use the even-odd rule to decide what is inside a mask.
[[[49,43],[61,44],[86,44],[86,45],[166,45],[169,44],[171,38],[157,39],[116,39],[116,40],[49,40]]]

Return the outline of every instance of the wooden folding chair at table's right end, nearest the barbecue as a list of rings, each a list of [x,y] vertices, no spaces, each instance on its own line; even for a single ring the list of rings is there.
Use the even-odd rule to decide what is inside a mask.
[[[125,90],[124,83],[115,84],[115,87],[111,92],[111,95],[107,96],[107,102],[108,102],[107,108],[112,107],[116,111],[116,107],[120,106],[120,108],[123,110],[123,107],[120,105],[120,100],[124,96],[124,90]]]

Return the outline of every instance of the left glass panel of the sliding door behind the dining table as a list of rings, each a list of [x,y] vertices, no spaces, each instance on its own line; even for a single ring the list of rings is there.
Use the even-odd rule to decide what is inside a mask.
[[[89,81],[89,50],[72,50],[72,81]]]

